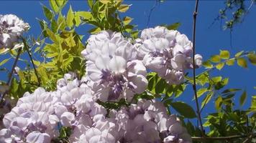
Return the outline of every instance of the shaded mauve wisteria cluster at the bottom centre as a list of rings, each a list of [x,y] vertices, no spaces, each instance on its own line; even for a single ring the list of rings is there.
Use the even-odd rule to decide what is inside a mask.
[[[140,100],[110,117],[119,125],[122,142],[189,143],[191,136],[175,115],[168,115],[162,102]]]

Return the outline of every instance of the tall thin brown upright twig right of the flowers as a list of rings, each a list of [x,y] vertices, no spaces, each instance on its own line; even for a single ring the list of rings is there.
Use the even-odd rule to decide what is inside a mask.
[[[196,111],[198,115],[198,121],[201,127],[202,136],[204,137],[204,127],[201,120],[200,109],[198,105],[198,98],[196,93],[196,63],[195,63],[195,54],[196,54],[196,16],[198,11],[198,0],[196,0],[195,11],[193,12],[193,92],[196,99]]]

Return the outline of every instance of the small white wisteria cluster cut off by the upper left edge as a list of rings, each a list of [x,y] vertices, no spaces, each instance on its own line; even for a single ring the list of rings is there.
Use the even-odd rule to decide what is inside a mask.
[[[14,14],[0,15],[0,49],[12,48],[29,24]]]

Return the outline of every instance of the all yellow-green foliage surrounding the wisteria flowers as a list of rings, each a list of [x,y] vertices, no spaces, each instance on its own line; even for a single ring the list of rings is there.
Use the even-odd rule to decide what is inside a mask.
[[[1,70],[7,71],[4,67],[9,59],[17,56],[18,50],[27,46],[32,53],[32,58],[36,70],[27,59],[19,58],[20,62],[27,64],[26,68],[17,71],[17,75],[12,78],[8,86],[6,82],[1,82],[1,87],[9,87],[8,96],[10,99],[19,99],[24,92],[34,92],[37,87],[44,87],[47,91],[56,89],[56,82],[64,74],[73,71],[81,79],[86,73],[85,59],[81,57],[81,51],[86,47],[84,34],[78,34],[76,29],[81,26],[93,26],[88,31],[89,34],[96,34],[102,30],[119,31],[123,36],[135,40],[138,38],[139,31],[136,26],[131,24],[132,17],[121,17],[130,9],[130,5],[123,1],[94,1],[88,0],[90,11],[73,11],[69,6],[67,14],[63,14],[63,7],[68,4],[66,0],[50,1],[50,8],[42,6],[45,20],[38,19],[42,34],[37,39],[26,37],[23,46],[13,49],[1,49],[1,55],[8,54],[9,57],[0,62]],[[232,18],[227,20],[226,28],[232,29],[234,24],[242,21],[247,10],[244,1],[226,1],[226,7],[220,11],[220,19],[227,19],[227,11],[235,9]],[[168,29],[178,29],[180,23],[165,25]],[[26,54],[22,48],[22,54]],[[212,76],[211,71],[218,69],[224,70],[224,66],[233,66],[237,63],[242,68],[248,68],[249,64],[256,65],[255,51],[239,51],[232,54],[228,50],[220,50],[219,54],[211,56],[203,63],[204,71],[196,75],[197,95],[201,99],[199,111],[191,107],[190,104],[180,101],[179,97],[186,96],[184,92],[193,84],[191,73],[186,73],[184,82],[178,85],[170,85],[165,79],[161,78],[156,72],[147,73],[148,86],[142,94],[136,94],[132,102],[140,99],[156,99],[168,109],[169,114],[177,113],[183,125],[188,129],[191,136],[201,137],[201,131],[193,120],[196,119],[198,112],[202,112],[209,102],[214,102],[215,112],[209,113],[204,117],[204,127],[209,131],[205,132],[206,137],[229,137],[234,135],[247,136],[255,134],[256,122],[256,95],[248,95],[244,89],[227,88],[228,77],[221,75]],[[228,67],[227,67],[228,68]],[[12,74],[7,71],[8,74]],[[37,73],[38,77],[37,78]],[[38,84],[40,82],[40,85]],[[1,88],[0,87],[0,88]],[[4,90],[3,90],[4,91]],[[1,93],[4,93],[0,90]],[[235,109],[234,97],[239,94],[239,106],[244,106],[247,99],[252,97],[250,107],[247,109]],[[194,99],[193,99],[194,100]],[[119,110],[122,106],[128,106],[125,100],[119,102],[98,101],[109,112],[111,109]],[[65,142],[70,136],[70,129],[60,127],[59,140]],[[212,139],[209,142],[243,142],[244,138],[223,139],[221,141]],[[53,142],[58,142],[53,141]],[[195,141],[197,142],[197,141]],[[208,141],[207,141],[208,142]],[[255,142],[255,141],[254,141]]]

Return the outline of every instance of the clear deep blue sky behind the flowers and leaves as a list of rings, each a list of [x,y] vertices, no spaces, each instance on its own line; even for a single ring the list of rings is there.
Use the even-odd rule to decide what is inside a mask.
[[[250,1],[247,1],[249,4]],[[47,1],[1,1],[0,14],[16,14],[30,24],[31,29],[29,35],[38,36],[40,34],[40,26],[37,23],[36,18],[45,19],[42,12],[41,4],[48,6]],[[147,19],[150,13],[150,9],[155,5],[155,1],[124,1],[125,4],[132,4],[127,13],[122,16],[130,16],[134,18],[132,24],[137,25],[137,29],[147,28]],[[193,9],[194,1],[165,1],[158,4],[152,11],[150,17],[149,27],[154,27],[160,24],[172,24],[180,22],[181,26],[179,31],[188,36],[188,39],[192,39],[192,22],[193,22]],[[65,11],[68,10],[68,5],[73,7],[73,11],[88,11],[86,1],[70,1],[65,6]],[[256,50],[256,9],[255,5],[252,7],[249,14],[247,14],[244,22],[234,27],[232,32],[232,47],[230,44],[229,30],[223,31],[220,21],[216,21],[210,28],[209,26],[214,21],[214,18],[218,15],[219,9],[224,7],[224,1],[199,1],[198,7],[198,21],[196,30],[196,52],[204,56],[204,59],[209,59],[212,54],[219,54],[219,49],[227,49],[231,51],[232,55],[238,51],[250,51]],[[63,12],[66,14],[66,12]],[[79,34],[85,34],[88,37],[88,31],[90,26],[83,26],[79,29]],[[26,58],[27,56],[24,56]],[[2,60],[4,56],[0,57]],[[8,64],[12,66],[12,61]],[[204,68],[198,69],[197,73],[204,71]],[[256,86],[256,66],[249,65],[249,68],[242,69],[239,66],[226,66],[221,71],[213,71],[211,75],[221,75],[223,77],[229,77],[229,85],[227,88],[241,88],[246,89],[248,93],[247,102],[244,107],[249,107],[250,96],[256,94],[256,90],[253,87]],[[6,74],[0,72],[0,80],[6,79]],[[242,93],[239,93],[240,95]],[[195,103],[191,102],[193,98],[193,91],[191,86],[188,86],[188,90],[184,92],[183,96],[178,100],[188,102],[193,107]],[[200,98],[199,100],[201,101]],[[239,96],[236,97],[239,99]],[[236,106],[240,108],[239,106]],[[243,107],[243,108],[244,108]],[[204,110],[204,115],[209,112],[214,112],[214,103],[211,102]]]

